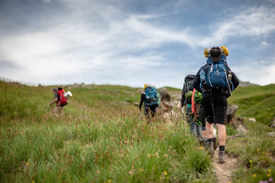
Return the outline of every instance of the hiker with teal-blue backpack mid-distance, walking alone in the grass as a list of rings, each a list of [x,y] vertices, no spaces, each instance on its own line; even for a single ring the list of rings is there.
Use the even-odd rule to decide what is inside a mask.
[[[156,108],[160,105],[160,94],[155,85],[145,84],[144,92],[141,94],[139,110],[144,103],[144,113],[150,123],[150,118],[153,118],[156,113]]]

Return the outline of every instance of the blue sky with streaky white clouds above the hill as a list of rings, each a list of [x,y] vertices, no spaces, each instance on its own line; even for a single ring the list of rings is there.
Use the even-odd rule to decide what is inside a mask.
[[[275,0],[0,0],[0,77],[182,88],[226,46],[242,81],[275,82]]]

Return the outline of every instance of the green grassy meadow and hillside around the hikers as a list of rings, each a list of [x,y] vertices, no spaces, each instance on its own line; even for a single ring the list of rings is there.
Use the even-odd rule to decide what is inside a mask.
[[[148,125],[134,105],[142,88],[91,85],[70,89],[64,115],[54,117],[53,88],[0,81],[0,182],[216,182],[211,158],[185,134],[181,109],[173,123],[160,115]],[[229,104],[257,119],[244,120],[248,137],[230,138],[238,133],[227,126],[226,152],[240,162],[232,182],[275,179],[275,139],[266,136],[275,85],[238,87]]]

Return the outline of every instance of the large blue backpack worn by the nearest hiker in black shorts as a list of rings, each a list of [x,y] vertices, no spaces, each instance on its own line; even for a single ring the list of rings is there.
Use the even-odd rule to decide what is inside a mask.
[[[206,75],[206,85],[208,88],[221,87],[224,90],[229,89],[229,66],[226,57],[222,56],[218,62],[213,62],[211,57],[207,59],[207,65],[204,68]]]

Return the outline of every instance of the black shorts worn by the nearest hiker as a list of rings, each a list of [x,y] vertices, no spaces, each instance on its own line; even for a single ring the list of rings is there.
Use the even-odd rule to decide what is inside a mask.
[[[215,111],[215,119],[216,124],[225,125],[226,122],[226,110],[227,110],[227,99],[225,95],[221,93],[213,93],[212,94],[214,111]],[[208,123],[214,123],[213,120],[213,110],[211,105],[210,94],[205,94],[203,96],[202,101],[204,107],[204,113]]]

